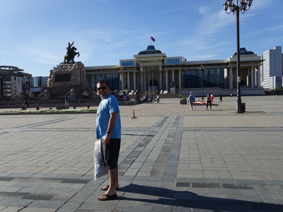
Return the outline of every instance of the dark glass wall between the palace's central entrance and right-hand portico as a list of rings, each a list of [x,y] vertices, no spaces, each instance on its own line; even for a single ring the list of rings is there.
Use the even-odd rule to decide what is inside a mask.
[[[205,69],[203,71],[203,87],[224,89],[224,68]],[[201,88],[201,71],[198,69],[183,69],[182,88]]]

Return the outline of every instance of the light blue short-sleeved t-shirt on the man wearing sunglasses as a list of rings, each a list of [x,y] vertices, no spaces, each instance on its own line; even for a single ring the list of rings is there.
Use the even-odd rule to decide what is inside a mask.
[[[121,139],[121,118],[118,100],[111,94],[101,100],[97,109],[96,117],[96,138],[104,138],[107,132],[110,114],[117,112],[116,122],[110,138]]]

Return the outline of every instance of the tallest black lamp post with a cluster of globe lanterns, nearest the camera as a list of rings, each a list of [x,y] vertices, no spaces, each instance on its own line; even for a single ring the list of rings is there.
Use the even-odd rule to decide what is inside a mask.
[[[239,4],[240,2],[240,4]],[[233,3],[233,0],[227,0],[224,4],[224,10],[227,14],[231,12],[233,15],[236,14],[236,37],[237,37],[237,113],[243,113],[241,110],[241,77],[240,77],[240,30],[239,30],[239,12],[245,13],[245,11],[250,9],[251,3],[253,0],[237,0],[237,5]],[[247,9],[249,6],[249,9]],[[228,7],[230,8],[230,12],[227,12]]]

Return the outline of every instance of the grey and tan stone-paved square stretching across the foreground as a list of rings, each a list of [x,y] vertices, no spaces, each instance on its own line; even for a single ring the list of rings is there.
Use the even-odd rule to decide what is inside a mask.
[[[120,189],[106,202],[96,114],[1,115],[0,211],[283,211],[283,97],[242,97],[244,114],[217,99],[120,106]]]

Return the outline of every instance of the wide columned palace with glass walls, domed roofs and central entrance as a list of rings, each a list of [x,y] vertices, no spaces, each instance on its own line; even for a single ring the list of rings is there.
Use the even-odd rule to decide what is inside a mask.
[[[237,55],[228,59],[187,61],[184,57],[167,57],[153,45],[134,55],[134,59],[121,59],[119,65],[85,67],[86,86],[96,92],[96,83],[106,80],[111,90],[127,90],[133,93],[181,93],[206,96],[237,94]],[[241,94],[264,93],[261,87],[260,67],[262,56],[240,49]],[[203,70],[199,69],[203,65]],[[201,73],[203,72],[203,73]],[[203,75],[203,86],[202,86]],[[174,82],[174,86],[172,86]],[[172,89],[175,88],[175,89]]]

